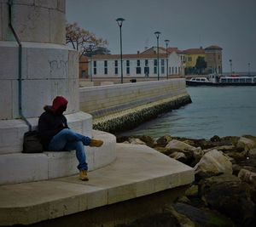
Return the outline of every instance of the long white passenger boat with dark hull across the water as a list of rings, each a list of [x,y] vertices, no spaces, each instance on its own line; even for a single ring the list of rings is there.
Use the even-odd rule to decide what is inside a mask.
[[[207,77],[192,77],[188,86],[256,86],[256,77],[240,75],[209,74]]]

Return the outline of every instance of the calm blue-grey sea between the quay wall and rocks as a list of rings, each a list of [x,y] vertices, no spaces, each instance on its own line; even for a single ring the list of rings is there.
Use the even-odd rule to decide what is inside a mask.
[[[121,135],[256,136],[256,87],[187,88],[192,103]]]

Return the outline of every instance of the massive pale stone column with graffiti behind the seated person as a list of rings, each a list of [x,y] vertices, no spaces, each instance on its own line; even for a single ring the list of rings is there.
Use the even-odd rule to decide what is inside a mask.
[[[44,105],[62,95],[74,128],[90,135],[91,116],[79,112],[79,55],[65,44],[65,0],[0,0],[0,154],[20,152],[28,130],[19,120],[19,45],[9,18],[22,46],[23,115],[36,126]]]

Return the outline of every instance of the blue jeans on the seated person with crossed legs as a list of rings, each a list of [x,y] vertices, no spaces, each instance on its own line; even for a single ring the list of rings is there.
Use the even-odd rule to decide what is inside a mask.
[[[78,169],[87,170],[84,145],[90,145],[90,138],[79,133],[74,133],[69,128],[64,128],[49,142],[49,150],[76,150],[76,156],[79,160]]]

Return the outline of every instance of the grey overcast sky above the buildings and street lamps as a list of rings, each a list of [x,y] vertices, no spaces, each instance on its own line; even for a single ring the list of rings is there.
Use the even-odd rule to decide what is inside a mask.
[[[67,22],[108,40],[111,54],[119,54],[119,26],[123,54],[156,46],[179,49],[223,48],[224,71],[256,71],[256,0],[66,0]]]

